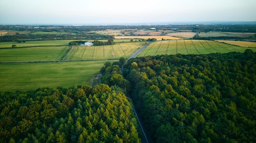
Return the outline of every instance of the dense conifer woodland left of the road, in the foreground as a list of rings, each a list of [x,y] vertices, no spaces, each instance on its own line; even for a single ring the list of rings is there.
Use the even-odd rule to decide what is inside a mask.
[[[132,106],[117,86],[0,95],[2,143],[138,143]]]

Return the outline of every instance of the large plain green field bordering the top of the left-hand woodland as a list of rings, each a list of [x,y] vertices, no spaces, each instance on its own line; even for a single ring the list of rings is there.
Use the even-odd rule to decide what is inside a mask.
[[[99,72],[105,62],[0,64],[0,92],[89,85],[92,76]]]

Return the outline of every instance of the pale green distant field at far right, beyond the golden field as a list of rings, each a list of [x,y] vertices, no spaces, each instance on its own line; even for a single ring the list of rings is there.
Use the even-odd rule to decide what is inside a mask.
[[[249,37],[254,36],[255,33],[242,33],[242,32],[201,32],[199,33],[200,37],[220,37],[220,36],[229,36],[229,37]]]

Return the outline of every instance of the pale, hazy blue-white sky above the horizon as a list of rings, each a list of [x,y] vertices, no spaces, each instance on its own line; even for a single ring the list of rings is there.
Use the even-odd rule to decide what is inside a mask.
[[[0,24],[256,21],[256,0],[0,0]]]

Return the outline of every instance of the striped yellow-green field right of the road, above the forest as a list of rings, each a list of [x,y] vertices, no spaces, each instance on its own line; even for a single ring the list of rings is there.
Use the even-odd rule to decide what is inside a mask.
[[[145,48],[139,56],[154,56],[161,54],[209,54],[209,53],[227,53],[227,52],[244,52],[246,49],[252,49],[256,52],[256,48],[245,48],[236,45],[229,45],[216,41],[206,40],[172,40],[157,41],[151,43]]]

